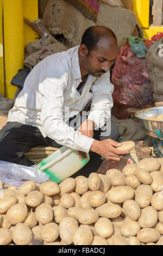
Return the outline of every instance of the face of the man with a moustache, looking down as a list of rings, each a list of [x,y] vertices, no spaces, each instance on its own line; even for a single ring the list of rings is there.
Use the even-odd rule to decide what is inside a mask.
[[[92,76],[101,77],[105,72],[109,71],[117,56],[117,51],[117,44],[108,46],[107,42],[101,40],[96,48],[90,52],[89,56],[87,56],[88,51],[86,51],[81,58],[81,64]]]

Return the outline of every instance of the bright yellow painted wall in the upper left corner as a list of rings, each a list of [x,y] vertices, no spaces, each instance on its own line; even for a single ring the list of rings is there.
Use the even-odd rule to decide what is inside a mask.
[[[38,19],[38,0],[0,0],[0,11],[2,3],[4,14],[5,82],[7,97],[14,99],[17,86],[12,86],[10,81],[19,69],[24,68],[24,46],[30,41],[37,40],[37,34],[23,22],[23,16],[32,21]],[[2,28],[1,14],[0,25]],[[2,65],[1,63],[0,59],[0,65]],[[3,88],[4,83],[0,80],[0,92],[4,95]]]

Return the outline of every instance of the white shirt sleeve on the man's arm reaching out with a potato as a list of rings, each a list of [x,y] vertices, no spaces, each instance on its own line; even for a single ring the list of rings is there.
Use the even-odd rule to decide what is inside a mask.
[[[46,78],[40,84],[43,95],[40,117],[42,129],[46,136],[58,144],[88,153],[95,139],[74,131],[73,127],[68,126],[63,119],[66,83],[65,77],[60,77]]]

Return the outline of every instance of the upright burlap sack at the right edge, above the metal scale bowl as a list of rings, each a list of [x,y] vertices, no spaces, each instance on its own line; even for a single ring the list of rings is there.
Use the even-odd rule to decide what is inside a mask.
[[[163,38],[154,42],[146,54],[147,71],[153,86],[155,102],[163,101],[163,47],[161,44],[163,46]]]

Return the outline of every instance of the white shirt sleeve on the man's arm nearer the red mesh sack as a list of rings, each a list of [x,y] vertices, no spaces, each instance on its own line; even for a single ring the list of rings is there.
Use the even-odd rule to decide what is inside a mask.
[[[110,72],[107,72],[101,78],[98,78],[91,86],[90,92],[93,96],[88,119],[95,122],[95,129],[104,126],[106,121],[111,118],[113,91],[114,86],[110,82]]]

